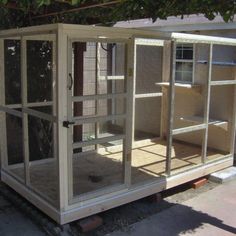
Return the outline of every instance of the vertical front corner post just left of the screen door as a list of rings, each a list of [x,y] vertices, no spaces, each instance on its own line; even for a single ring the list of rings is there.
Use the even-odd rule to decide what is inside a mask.
[[[63,31],[63,25],[58,25],[57,32],[57,153],[59,174],[59,207],[63,211],[68,206],[68,162],[72,156],[68,156],[68,129],[63,127],[63,121],[67,120],[67,35]],[[72,160],[71,160],[72,161]],[[71,169],[69,171],[72,171]]]

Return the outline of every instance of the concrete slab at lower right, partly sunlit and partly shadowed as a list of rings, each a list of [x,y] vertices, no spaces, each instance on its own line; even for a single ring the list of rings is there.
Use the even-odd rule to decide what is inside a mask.
[[[108,235],[236,235],[236,180]]]

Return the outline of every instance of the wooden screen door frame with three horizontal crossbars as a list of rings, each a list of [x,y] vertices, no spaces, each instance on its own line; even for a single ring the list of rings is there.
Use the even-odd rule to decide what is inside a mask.
[[[79,36],[79,35],[78,35]],[[124,45],[126,45],[128,43],[128,39],[127,40],[114,40],[114,39],[96,39],[94,40],[93,38],[89,38],[86,37],[86,40],[84,38],[80,38],[80,37],[76,37],[75,35],[73,36],[73,38],[69,38],[68,40],[68,66],[69,68],[72,68],[72,43],[73,42],[96,42],[97,43],[97,52],[96,52],[96,57],[97,57],[97,61],[96,61],[96,91],[95,91],[95,95],[86,95],[86,96],[73,96],[72,90],[68,89],[68,119],[70,121],[72,121],[74,124],[73,125],[80,125],[80,124],[85,124],[85,123],[95,123],[96,125],[96,132],[95,132],[95,139],[91,140],[91,141],[81,141],[81,142],[76,142],[73,143],[72,142],[72,128],[73,125],[69,128],[69,132],[68,132],[68,140],[69,143],[72,144],[72,149],[69,148],[68,149],[68,163],[69,163],[69,170],[70,170],[70,176],[69,176],[69,204],[72,204],[76,201],[84,201],[87,198],[91,198],[91,196],[99,196],[99,195],[103,195],[103,194],[108,194],[110,191],[113,192],[115,189],[120,190],[121,188],[125,188],[125,184],[121,184],[119,185],[117,188],[116,187],[110,187],[110,188],[105,188],[104,190],[98,190],[98,191],[94,191],[94,193],[88,193],[87,197],[84,194],[84,196],[82,197],[78,197],[78,196],[73,196],[73,177],[72,177],[72,172],[71,169],[73,168],[72,165],[72,161],[70,160],[70,157],[73,156],[73,153],[71,150],[76,149],[76,148],[81,148],[81,147],[86,147],[89,145],[97,145],[98,144],[102,144],[102,143],[106,143],[106,142],[111,142],[111,141],[117,141],[117,140],[124,140],[125,139],[125,135],[115,135],[115,136],[110,136],[110,137],[105,137],[105,138],[98,138],[99,135],[99,122],[102,121],[113,121],[116,119],[126,119],[127,114],[116,114],[116,115],[109,115],[109,116],[99,116],[99,115],[93,115],[93,116],[80,116],[80,117],[76,117],[72,115],[72,104],[73,102],[79,102],[79,101],[86,101],[86,100],[94,100],[96,102],[96,107],[97,107],[97,101],[99,99],[115,99],[115,98],[127,98],[127,93],[110,93],[110,94],[98,94],[97,93],[97,82],[98,80],[113,80],[113,79],[119,79],[119,80],[125,80],[125,76],[111,76],[111,78],[109,76],[100,76],[100,52],[99,52],[99,48],[100,48],[100,43],[104,42],[104,43],[123,43]],[[127,50],[127,46],[125,46],[125,50]],[[125,53],[125,57],[126,57],[127,52]],[[126,65],[125,65],[126,67]],[[71,69],[69,69],[69,73],[72,73]],[[97,109],[97,108],[96,108]],[[97,111],[96,111],[97,114]],[[125,158],[125,153],[127,153],[126,148],[127,145],[123,145],[123,163],[126,162],[126,158]],[[126,182],[127,179],[127,174],[126,174],[126,165],[123,164],[124,166],[124,182]],[[110,189],[110,190],[109,190]],[[76,200],[77,199],[77,200]]]

